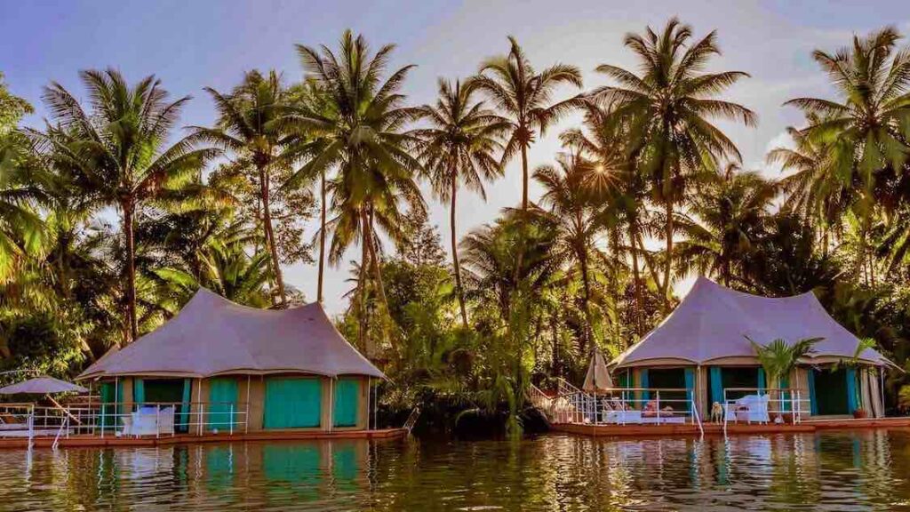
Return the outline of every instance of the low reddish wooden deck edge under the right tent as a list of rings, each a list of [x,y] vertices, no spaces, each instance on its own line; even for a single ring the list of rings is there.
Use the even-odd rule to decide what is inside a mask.
[[[728,435],[749,434],[782,434],[812,433],[823,430],[856,430],[865,428],[908,428],[910,417],[896,418],[836,418],[804,420],[802,423],[747,425],[731,423],[727,425]],[[611,436],[611,437],[652,437],[673,435],[700,435],[698,425],[579,425],[553,424],[552,430],[578,435]],[[704,435],[723,435],[723,424],[706,423]]]

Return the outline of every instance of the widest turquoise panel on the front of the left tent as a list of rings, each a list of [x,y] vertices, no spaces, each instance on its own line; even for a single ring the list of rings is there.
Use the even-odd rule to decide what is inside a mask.
[[[266,380],[264,428],[312,428],[322,415],[322,381],[272,377]]]

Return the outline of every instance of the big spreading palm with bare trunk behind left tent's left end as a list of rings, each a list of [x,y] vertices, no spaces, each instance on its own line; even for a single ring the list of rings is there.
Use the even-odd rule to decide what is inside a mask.
[[[87,70],[80,77],[88,89],[91,111],[69,91],[53,82],[44,100],[60,126],[59,137],[33,132],[49,144],[60,165],[78,173],[80,187],[98,203],[116,206],[124,237],[126,323],[124,341],[138,336],[136,316],[137,212],[181,187],[197,175],[215,148],[197,148],[197,140],[182,138],[167,146],[180,109],[189,100],[167,100],[167,91],[154,76],[130,87],[116,69]]]

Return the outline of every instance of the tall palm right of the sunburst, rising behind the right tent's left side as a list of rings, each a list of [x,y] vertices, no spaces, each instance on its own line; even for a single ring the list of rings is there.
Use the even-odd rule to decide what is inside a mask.
[[[613,105],[613,123],[622,126],[626,152],[634,169],[648,177],[652,199],[663,205],[666,254],[659,282],[664,308],[669,308],[675,207],[685,198],[687,182],[698,169],[715,169],[720,159],[740,161],[739,150],[712,120],[756,123],[752,110],[718,99],[725,89],[749,75],[742,71],[703,73],[720,55],[711,32],[692,42],[691,26],[671,18],[660,34],[649,26],[644,35],[628,34],[624,44],[638,57],[642,71],[608,64],[597,71],[618,85],[599,87],[592,96]]]

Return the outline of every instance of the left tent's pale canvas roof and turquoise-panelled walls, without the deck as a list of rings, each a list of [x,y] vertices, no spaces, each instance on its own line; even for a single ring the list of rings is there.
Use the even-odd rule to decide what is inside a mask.
[[[365,429],[369,383],[384,378],[319,303],[258,310],[200,289],[168,323],[77,380],[101,383],[111,415],[171,404],[177,431],[249,432]]]

